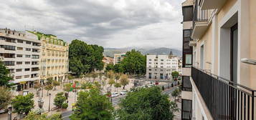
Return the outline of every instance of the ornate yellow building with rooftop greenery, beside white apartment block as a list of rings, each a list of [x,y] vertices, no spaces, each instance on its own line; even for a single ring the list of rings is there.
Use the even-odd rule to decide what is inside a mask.
[[[34,32],[42,41],[40,78],[43,84],[46,79],[52,77],[56,81],[65,80],[68,74],[68,44],[53,35],[44,35]]]

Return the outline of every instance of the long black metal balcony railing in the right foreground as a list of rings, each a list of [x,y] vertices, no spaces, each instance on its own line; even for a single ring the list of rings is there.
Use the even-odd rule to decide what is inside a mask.
[[[255,119],[255,90],[194,67],[191,77],[213,119]]]

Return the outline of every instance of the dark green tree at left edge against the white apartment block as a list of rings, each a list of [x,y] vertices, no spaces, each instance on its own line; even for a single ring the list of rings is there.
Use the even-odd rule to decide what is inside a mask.
[[[9,76],[10,72],[6,69],[6,66],[0,61],[0,86],[10,87],[9,81],[13,80],[11,76]]]

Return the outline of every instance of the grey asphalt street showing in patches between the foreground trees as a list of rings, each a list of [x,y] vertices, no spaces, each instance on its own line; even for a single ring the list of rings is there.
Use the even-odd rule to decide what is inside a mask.
[[[176,88],[178,88],[178,86],[174,86],[170,89],[166,89],[165,91],[162,91],[163,94],[168,94],[169,96],[171,96],[171,92],[174,91]],[[112,104],[113,106],[117,106],[120,103],[120,99],[125,98],[124,96],[117,96],[115,98],[112,98]],[[62,113],[62,119],[63,120],[70,120],[69,116],[71,116],[72,111],[65,111]]]

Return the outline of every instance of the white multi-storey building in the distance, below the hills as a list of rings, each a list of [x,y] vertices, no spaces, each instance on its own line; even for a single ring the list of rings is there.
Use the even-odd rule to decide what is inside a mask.
[[[147,79],[171,79],[172,71],[179,71],[179,58],[169,55],[146,56]]]

